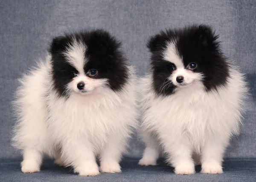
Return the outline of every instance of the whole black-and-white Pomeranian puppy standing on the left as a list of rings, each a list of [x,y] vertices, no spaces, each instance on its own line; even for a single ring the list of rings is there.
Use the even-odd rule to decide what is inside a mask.
[[[44,154],[81,176],[121,171],[136,127],[133,68],[120,42],[98,29],[55,37],[49,55],[20,79],[13,145],[21,171],[40,171]]]

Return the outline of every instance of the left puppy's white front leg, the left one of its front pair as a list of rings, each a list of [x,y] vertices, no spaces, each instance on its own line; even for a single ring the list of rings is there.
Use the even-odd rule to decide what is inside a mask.
[[[81,137],[82,138],[82,137]],[[73,166],[79,176],[97,176],[99,167],[91,143],[79,137],[68,139],[62,145],[65,163]]]

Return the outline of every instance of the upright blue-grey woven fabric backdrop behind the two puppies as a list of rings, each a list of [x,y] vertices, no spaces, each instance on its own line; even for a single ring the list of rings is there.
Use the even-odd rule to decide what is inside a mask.
[[[63,31],[105,28],[119,38],[142,76],[148,69],[148,37],[164,28],[207,23],[220,34],[227,57],[237,60],[251,90],[241,135],[228,158],[256,158],[255,0],[1,0],[0,1],[0,159],[20,158],[10,146],[14,124],[10,102],[16,79],[46,55],[52,37]],[[140,157],[134,136],[129,156]]]

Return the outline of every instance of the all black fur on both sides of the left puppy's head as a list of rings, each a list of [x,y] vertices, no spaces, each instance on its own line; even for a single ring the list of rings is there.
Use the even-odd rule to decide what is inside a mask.
[[[93,79],[108,79],[108,85],[113,91],[119,91],[128,80],[128,67],[125,57],[120,50],[121,43],[107,31],[97,29],[81,31],[55,37],[49,48],[52,55],[52,78],[54,88],[60,96],[68,97],[67,85],[72,81],[72,74],[78,74],[76,68],[70,64],[64,52],[76,42],[87,48],[84,53],[84,74],[90,69],[98,72]],[[85,61],[86,60],[86,61]]]

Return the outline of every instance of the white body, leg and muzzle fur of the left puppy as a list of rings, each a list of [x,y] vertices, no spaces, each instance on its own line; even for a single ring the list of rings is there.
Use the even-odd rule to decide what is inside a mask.
[[[73,57],[78,58],[76,55]],[[118,92],[99,87],[104,85],[99,83],[102,80],[90,82],[79,75],[71,89],[83,80],[91,86],[97,81],[94,87],[103,90],[84,96],[71,94],[67,99],[59,97],[53,89],[50,59],[47,57],[46,63],[20,79],[21,86],[16,92],[14,106],[18,121],[12,142],[22,150],[22,171],[40,171],[42,156],[47,154],[55,157],[59,165],[72,166],[81,176],[96,176],[99,170],[120,172],[119,162],[132,128],[137,125],[133,68],[129,67],[130,80]]]

